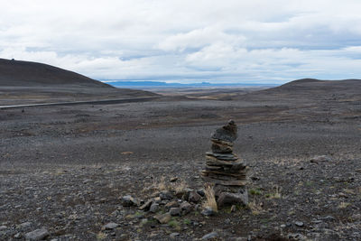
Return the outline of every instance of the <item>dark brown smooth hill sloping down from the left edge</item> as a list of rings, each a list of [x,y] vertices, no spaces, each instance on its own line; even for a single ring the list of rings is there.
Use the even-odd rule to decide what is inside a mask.
[[[51,65],[0,59],[0,86],[42,87],[53,85],[113,88],[100,81]]]

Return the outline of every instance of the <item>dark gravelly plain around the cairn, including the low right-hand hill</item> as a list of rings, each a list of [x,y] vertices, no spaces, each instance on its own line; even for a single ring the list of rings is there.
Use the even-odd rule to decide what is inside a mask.
[[[49,240],[360,240],[361,80],[219,91],[0,109],[0,239],[45,228]],[[160,224],[171,200],[156,213],[123,205],[126,195],[201,193],[210,134],[229,119],[249,166],[246,207],[205,217],[199,201]]]

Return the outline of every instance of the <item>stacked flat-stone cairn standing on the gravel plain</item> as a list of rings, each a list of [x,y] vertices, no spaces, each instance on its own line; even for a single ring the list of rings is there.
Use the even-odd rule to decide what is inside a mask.
[[[246,166],[233,153],[236,137],[236,124],[230,120],[212,134],[212,151],[206,153],[207,162],[205,170],[202,171],[202,179],[213,185],[218,207],[248,203],[248,192],[245,188]]]

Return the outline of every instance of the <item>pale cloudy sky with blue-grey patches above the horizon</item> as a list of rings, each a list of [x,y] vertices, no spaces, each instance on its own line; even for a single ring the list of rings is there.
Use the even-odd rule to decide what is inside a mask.
[[[361,79],[360,0],[0,0],[0,58],[94,79]]]

